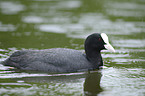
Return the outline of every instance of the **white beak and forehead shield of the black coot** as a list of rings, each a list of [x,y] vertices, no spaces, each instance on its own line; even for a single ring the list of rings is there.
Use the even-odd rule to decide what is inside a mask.
[[[115,52],[115,49],[111,46],[111,44],[109,43],[109,40],[108,40],[108,36],[105,34],[105,33],[101,33],[101,37],[102,39],[104,40],[104,42],[106,43],[104,45],[104,47],[109,50],[110,52]]]

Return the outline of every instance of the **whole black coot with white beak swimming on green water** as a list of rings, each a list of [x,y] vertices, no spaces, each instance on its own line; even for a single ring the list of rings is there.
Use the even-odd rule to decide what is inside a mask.
[[[99,69],[103,66],[101,50],[115,52],[105,33],[94,33],[85,40],[85,53],[67,48],[45,50],[22,50],[13,53],[3,65],[21,70],[43,72],[77,72]]]

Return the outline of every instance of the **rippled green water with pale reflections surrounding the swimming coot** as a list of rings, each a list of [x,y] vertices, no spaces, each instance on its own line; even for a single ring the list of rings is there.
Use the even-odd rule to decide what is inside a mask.
[[[22,49],[83,50],[106,33],[116,53],[102,51],[104,69],[36,73],[0,64],[2,96],[145,96],[144,0],[1,0],[0,61]]]

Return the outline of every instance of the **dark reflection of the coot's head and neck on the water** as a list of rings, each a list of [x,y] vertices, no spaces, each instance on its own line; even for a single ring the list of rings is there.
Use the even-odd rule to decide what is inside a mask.
[[[97,96],[103,89],[100,86],[102,74],[99,71],[88,73],[84,83],[85,96]]]

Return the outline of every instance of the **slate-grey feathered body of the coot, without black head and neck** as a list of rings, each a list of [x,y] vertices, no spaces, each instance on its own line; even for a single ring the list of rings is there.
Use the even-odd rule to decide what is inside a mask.
[[[77,72],[95,67],[87,60],[85,53],[67,48],[17,51],[5,62],[5,65],[22,70],[45,72]],[[102,64],[101,60],[98,63]]]

